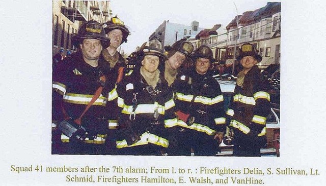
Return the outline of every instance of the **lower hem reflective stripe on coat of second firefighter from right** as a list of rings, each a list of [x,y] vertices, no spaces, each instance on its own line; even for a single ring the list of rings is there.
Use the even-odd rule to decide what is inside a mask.
[[[199,132],[204,132],[204,133],[206,133],[208,135],[213,135],[216,132],[215,130],[213,130],[213,129],[207,127],[207,126],[201,125],[201,124],[198,124],[198,123],[193,123],[193,125],[188,126],[182,120],[178,120],[177,122],[174,122],[173,120],[165,122],[165,127],[166,128],[170,128],[170,127],[174,127],[174,126],[180,126],[180,127],[183,127],[183,128],[192,129],[192,130],[196,130],[196,131],[199,131]]]

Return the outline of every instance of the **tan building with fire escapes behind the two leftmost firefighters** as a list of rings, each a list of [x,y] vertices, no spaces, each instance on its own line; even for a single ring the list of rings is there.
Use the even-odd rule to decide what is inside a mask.
[[[52,1],[52,53],[75,51],[73,34],[85,21],[100,23],[111,19],[110,1]]]

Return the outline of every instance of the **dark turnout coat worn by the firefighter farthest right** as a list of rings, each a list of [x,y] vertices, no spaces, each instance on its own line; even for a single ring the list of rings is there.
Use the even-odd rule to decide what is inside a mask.
[[[235,145],[260,147],[265,143],[266,117],[270,110],[267,90],[268,83],[257,66],[247,73],[242,86],[236,85],[227,110]]]

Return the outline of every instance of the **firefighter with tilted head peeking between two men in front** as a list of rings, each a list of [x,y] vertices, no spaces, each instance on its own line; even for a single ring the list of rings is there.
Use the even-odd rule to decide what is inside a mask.
[[[190,56],[194,50],[194,46],[190,42],[182,39],[174,43],[172,47],[166,46],[164,48],[168,55],[168,59],[165,62],[164,77],[169,86],[172,86],[181,70],[181,65],[191,62]]]

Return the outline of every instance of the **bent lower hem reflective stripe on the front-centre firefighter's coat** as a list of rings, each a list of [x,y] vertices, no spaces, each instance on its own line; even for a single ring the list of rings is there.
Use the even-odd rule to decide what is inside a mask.
[[[127,141],[125,139],[122,141],[117,141],[117,148],[132,147],[132,146],[144,145],[144,144],[148,144],[148,143],[153,143],[153,144],[156,144],[156,145],[159,145],[162,147],[169,146],[169,141],[167,139],[159,137],[155,134],[145,132],[140,137],[141,137],[141,140],[139,140],[136,143],[133,143],[131,145],[128,145]]]

